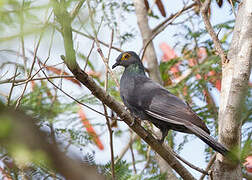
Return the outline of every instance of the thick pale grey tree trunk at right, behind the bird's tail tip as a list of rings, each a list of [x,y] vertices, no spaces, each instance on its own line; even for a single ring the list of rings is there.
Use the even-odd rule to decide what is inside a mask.
[[[241,110],[252,63],[252,1],[239,5],[234,34],[228,52],[229,63],[222,67],[222,87],[219,109],[219,141],[227,148],[240,147]],[[241,166],[234,165],[220,154],[214,165],[214,180],[242,179]]]

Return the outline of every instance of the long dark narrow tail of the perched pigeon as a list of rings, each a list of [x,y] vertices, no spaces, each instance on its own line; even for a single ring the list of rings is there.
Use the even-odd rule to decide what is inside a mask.
[[[207,132],[205,132],[200,127],[192,124],[192,126],[190,125],[187,128],[190,129],[193,132],[193,134],[198,136],[202,141],[204,141],[206,144],[208,144],[215,151],[221,153],[223,156],[226,156],[230,153],[226,147],[224,147],[222,144],[217,142],[213,137],[211,137]]]

